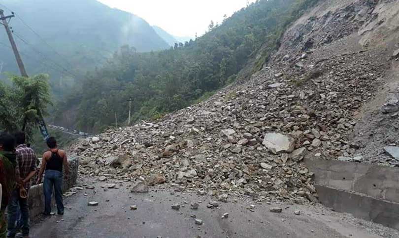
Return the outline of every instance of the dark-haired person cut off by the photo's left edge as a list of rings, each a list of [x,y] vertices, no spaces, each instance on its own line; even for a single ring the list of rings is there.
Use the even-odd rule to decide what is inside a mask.
[[[15,155],[15,140],[8,133],[0,132],[0,184],[1,184],[1,205],[0,205],[0,238],[7,236],[7,223],[5,222],[5,208],[11,196],[15,183],[19,180],[18,163]]]

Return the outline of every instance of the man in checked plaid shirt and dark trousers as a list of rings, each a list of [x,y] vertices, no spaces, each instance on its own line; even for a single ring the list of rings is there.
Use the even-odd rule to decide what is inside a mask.
[[[26,190],[28,195],[31,187],[31,179],[36,174],[36,154],[25,143],[25,133],[17,132],[14,134],[17,144],[16,155],[19,168],[19,177],[21,178],[20,187],[15,188],[11,193],[8,203],[8,237],[29,237],[29,207],[28,196],[21,197],[20,190]],[[20,219],[18,208],[21,209],[22,233],[16,234],[16,222]]]

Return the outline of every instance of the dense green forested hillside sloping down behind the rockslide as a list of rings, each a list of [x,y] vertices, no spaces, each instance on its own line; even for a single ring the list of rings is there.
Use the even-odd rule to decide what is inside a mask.
[[[115,113],[120,122],[127,119],[130,97],[134,120],[189,106],[232,83],[242,69],[242,79],[260,70],[284,29],[316,1],[259,0],[169,50],[122,47],[59,105],[56,121],[98,132],[114,123]],[[65,113],[79,116],[66,121]]]

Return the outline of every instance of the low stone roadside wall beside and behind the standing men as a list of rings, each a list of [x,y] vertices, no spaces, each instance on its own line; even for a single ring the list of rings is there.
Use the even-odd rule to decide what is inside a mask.
[[[70,158],[69,163],[69,176],[64,178],[64,191],[73,187],[76,184],[78,176],[79,159]],[[54,190],[53,190],[53,204],[54,204]],[[29,190],[28,205],[30,209],[30,217],[33,219],[38,214],[44,211],[44,194],[43,194],[43,184],[33,185]]]

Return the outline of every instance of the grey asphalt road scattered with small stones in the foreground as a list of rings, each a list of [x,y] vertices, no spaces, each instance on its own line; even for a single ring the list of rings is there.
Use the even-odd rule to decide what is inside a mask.
[[[131,193],[127,187],[104,191],[84,189],[66,198],[64,216],[43,217],[32,226],[32,238],[377,238],[366,230],[348,224],[340,215],[304,205],[258,205],[250,201],[220,203],[209,209],[210,197],[158,190]],[[87,183],[91,184],[91,183]],[[230,199],[230,198],[229,198]],[[233,200],[233,199],[231,199]],[[97,201],[97,207],[88,202]],[[192,210],[185,202],[199,203]],[[179,211],[171,205],[184,205]],[[130,210],[136,205],[137,210]],[[269,212],[280,206],[281,213]],[[294,211],[300,210],[300,215]],[[54,211],[55,208],[54,208]],[[229,217],[222,215],[228,212]],[[203,221],[196,225],[191,215]],[[332,213],[332,214],[331,214]]]

